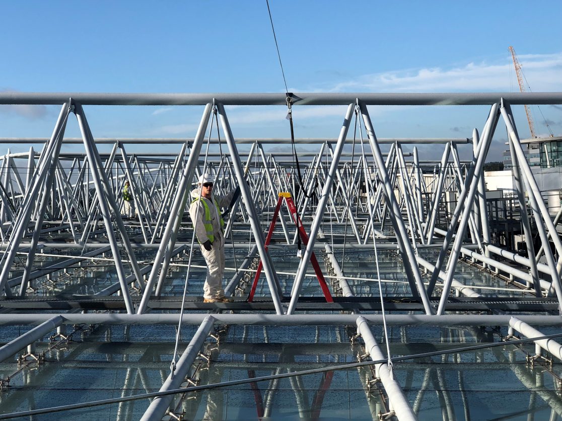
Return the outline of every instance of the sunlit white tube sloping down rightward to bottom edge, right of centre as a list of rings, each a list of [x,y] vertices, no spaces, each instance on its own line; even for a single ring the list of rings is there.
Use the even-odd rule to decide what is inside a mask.
[[[380,351],[377,341],[369,328],[369,323],[362,316],[357,317],[357,333],[361,333],[361,337],[365,341],[365,349],[369,353],[371,360],[384,359],[385,356]],[[389,407],[395,411],[396,417],[400,421],[417,420],[414,410],[410,406],[410,402],[406,399],[402,388],[398,382],[392,377],[388,370],[387,364],[375,364],[375,372],[383,383],[389,400]]]

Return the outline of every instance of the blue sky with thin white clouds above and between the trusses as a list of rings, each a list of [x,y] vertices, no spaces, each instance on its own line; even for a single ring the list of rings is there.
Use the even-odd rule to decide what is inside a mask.
[[[518,90],[513,45],[533,91],[562,91],[561,1],[270,0],[289,90]],[[2,3],[0,90],[282,92],[261,1]],[[87,107],[96,137],[192,137],[201,107]],[[235,137],[288,137],[283,107],[227,109]],[[470,137],[488,107],[372,107],[379,137]],[[522,137],[523,107],[514,107]],[[533,107],[562,135],[562,107]],[[345,107],[298,107],[297,137],[337,137]],[[58,107],[0,106],[0,137],[47,137]],[[67,136],[78,136],[70,126]],[[489,161],[501,160],[498,129]],[[76,148],[76,147],[73,147]],[[304,148],[304,147],[303,147]],[[12,151],[18,150],[15,145]],[[433,159],[434,149],[423,157]],[[0,152],[2,153],[2,152]],[[439,152],[439,155],[441,152]],[[436,159],[438,159],[437,157]]]

